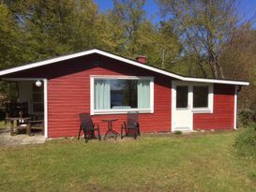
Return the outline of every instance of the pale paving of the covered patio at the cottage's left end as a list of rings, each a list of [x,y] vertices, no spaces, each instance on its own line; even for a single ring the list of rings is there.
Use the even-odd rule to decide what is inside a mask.
[[[40,133],[35,133],[33,136],[27,136],[25,134],[17,134],[15,136],[10,136],[9,128],[0,129],[0,146],[39,144],[44,142],[45,138]]]

